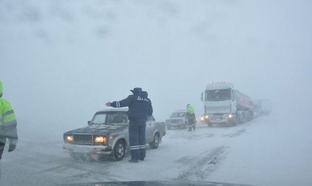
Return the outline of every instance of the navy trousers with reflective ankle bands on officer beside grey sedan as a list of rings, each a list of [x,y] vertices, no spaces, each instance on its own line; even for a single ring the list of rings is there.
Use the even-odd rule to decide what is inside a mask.
[[[129,142],[131,159],[142,159],[146,155],[145,120],[129,122]]]

